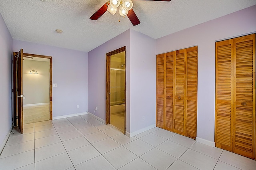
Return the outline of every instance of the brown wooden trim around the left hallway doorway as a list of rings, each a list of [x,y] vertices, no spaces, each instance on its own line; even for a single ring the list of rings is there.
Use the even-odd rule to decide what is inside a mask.
[[[17,52],[14,52],[14,53],[17,53]],[[29,54],[29,53],[23,53],[23,56],[48,58],[50,60],[50,70],[49,70],[49,73],[50,73],[49,102],[50,102],[50,120],[52,120],[52,56]]]

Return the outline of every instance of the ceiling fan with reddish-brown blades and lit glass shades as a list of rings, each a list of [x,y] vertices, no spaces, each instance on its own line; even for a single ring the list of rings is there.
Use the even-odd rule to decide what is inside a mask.
[[[171,0],[152,0],[152,1],[168,1]],[[132,9],[133,3],[132,0],[110,0],[106,2],[98,11],[96,11],[91,17],[91,20],[98,20],[106,11],[110,14],[115,14],[117,8],[119,7],[120,16],[128,16],[129,20],[132,22],[132,25],[136,26],[140,24],[140,20],[136,16],[134,10]],[[120,20],[119,20],[120,21]]]

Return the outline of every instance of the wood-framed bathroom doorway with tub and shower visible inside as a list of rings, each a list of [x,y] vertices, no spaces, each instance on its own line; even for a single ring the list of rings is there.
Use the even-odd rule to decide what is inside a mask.
[[[125,47],[106,54],[106,124],[126,131]]]

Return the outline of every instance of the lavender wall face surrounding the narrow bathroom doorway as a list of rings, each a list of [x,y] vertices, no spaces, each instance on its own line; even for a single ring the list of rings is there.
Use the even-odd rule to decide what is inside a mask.
[[[88,112],[106,120],[106,53],[126,46],[126,128],[130,132],[130,30],[88,53]]]

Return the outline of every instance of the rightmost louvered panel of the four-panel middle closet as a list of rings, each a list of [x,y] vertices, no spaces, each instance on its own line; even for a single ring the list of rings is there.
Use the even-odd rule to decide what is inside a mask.
[[[197,117],[197,47],[187,49],[186,65],[186,136],[196,138]]]

